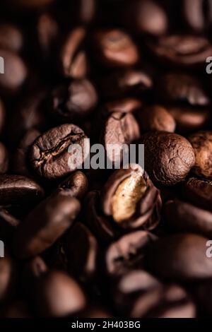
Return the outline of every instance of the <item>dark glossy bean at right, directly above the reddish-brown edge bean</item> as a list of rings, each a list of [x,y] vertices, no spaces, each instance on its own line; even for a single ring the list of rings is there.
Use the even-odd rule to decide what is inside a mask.
[[[208,106],[209,97],[195,77],[182,73],[167,73],[158,80],[156,91],[165,102],[179,102],[192,106]]]

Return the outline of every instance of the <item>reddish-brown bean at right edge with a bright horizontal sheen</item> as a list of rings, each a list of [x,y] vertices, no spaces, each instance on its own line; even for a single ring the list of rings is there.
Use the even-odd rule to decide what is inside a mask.
[[[167,107],[167,111],[174,117],[177,130],[184,133],[201,129],[210,118],[208,108],[173,106]]]

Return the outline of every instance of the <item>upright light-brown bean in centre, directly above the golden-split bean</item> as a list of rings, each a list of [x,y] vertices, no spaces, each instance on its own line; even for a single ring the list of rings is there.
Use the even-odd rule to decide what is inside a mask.
[[[113,113],[105,123],[102,136],[107,159],[117,165],[122,162],[124,145],[139,139],[139,124],[131,113]]]

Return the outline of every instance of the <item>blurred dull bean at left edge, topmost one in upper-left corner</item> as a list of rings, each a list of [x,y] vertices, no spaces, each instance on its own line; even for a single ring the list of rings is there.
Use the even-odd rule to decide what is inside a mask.
[[[23,34],[12,24],[0,25],[0,47],[13,52],[20,52],[23,47]]]

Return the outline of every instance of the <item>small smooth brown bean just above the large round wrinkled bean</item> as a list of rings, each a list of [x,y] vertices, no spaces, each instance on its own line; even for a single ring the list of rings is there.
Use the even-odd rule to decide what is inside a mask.
[[[175,132],[175,119],[167,112],[164,107],[153,105],[146,107],[139,114],[139,123],[141,131],[167,131],[170,133]]]

